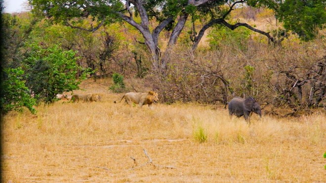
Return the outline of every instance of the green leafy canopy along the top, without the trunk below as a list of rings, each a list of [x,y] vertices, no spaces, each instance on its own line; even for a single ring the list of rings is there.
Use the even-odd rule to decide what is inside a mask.
[[[120,12],[127,10],[135,12],[135,16],[146,12],[149,19],[156,18],[161,23],[168,17],[175,19],[183,12],[189,13],[196,19],[209,15],[210,19],[221,17],[225,8],[221,5],[232,3],[247,3],[250,6],[265,6],[275,10],[285,28],[301,37],[313,38],[316,28],[326,23],[325,0],[29,0],[36,14],[45,13],[53,17],[55,22],[74,27],[74,23],[91,16],[93,20],[112,23],[121,20]],[[134,4],[133,6],[131,4]],[[197,5],[199,4],[199,5]],[[131,17],[131,16],[130,16]],[[76,19],[79,18],[79,19]],[[224,17],[225,18],[225,17]],[[172,24],[166,25],[171,30]],[[97,27],[88,30],[95,31]]]

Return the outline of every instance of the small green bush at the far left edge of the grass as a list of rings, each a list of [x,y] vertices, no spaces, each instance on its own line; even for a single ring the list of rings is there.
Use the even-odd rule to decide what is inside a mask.
[[[33,108],[36,99],[31,97],[30,90],[25,86],[24,71],[21,68],[5,69],[4,73],[5,78],[1,86],[3,96],[0,98],[2,112],[22,111],[23,107],[26,107],[32,113],[36,113]]]

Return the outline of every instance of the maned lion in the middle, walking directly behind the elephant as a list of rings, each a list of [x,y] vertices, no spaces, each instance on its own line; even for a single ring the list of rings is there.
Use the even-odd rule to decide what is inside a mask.
[[[122,96],[120,102],[123,98],[125,99],[125,102],[130,106],[133,103],[139,104],[139,107],[147,104],[148,107],[151,108],[153,103],[159,102],[158,93],[154,91],[149,91],[148,93],[129,92]],[[114,103],[116,103],[116,101],[114,101]]]

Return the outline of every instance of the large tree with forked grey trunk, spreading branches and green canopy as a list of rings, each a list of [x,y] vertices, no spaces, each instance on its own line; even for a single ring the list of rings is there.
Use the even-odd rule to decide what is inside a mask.
[[[299,8],[297,2],[303,3]],[[285,37],[273,37],[269,32],[258,30],[247,23],[230,24],[228,15],[237,6],[265,6],[277,13],[279,19],[285,22],[285,28],[298,33],[300,36],[312,37],[318,26],[325,23],[321,20],[325,15],[325,0],[29,0],[33,12],[45,14],[50,20],[60,22],[72,28],[94,32],[104,24],[125,21],[136,28],[144,38],[144,43],[152,57],[155,70],[166,69],[169,52],[177,42],[188,17],[192,22],[203,20],[203,27],[197,33],[190,34],[195,50],[204,32],[211,26],[220,24],[231,30],[246,27],[256,33],[265,35],[274,45]],[[291,8],[287,5],[293,4]],[[299,11],[294,11],[299,8]],[[313,15],[317,13],[317,15]],[[140,19],[134,19],[139,16]],[[81,21],[92,18],[88,27],[79,27]],[[149,20],[156,20],[151,24]],[[318,20],[317,20],[318,19]],[[325,19],[325,18],[324,18]],[[299,24],[298,24],[299,23]],[[156,26],[156,27],[152,27]],[[171,31],[165,52],[161,54],[158,37],[163,29]],[[161,58],[161,55],[162,58]]]

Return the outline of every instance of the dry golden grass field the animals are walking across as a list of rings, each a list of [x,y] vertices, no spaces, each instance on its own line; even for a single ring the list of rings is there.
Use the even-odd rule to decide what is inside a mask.
[[[109,86],[87,80],[75,92],[99,93],[101,102],[59,101],[37,115],[6,115],[3,182],[326,181],[325,110],[297,118],[253,114],[249,126],[230,120],[222,106],[114,104],[122,94]]]

